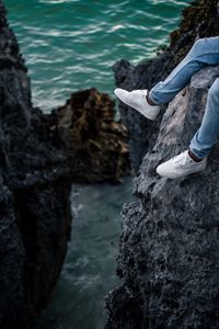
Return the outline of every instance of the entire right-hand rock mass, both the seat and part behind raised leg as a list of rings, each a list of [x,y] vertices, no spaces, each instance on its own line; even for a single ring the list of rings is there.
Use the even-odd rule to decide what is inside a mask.
[[[171,45],[153,60],[137,67],[117,61],[117,87],[150,89],[165,79],[196,37],[219,34],[216,4],[199,0],[184,10]],[[122,284],[106,297],[105,329],[219,328],[219,145],[198,175],[166,180],[155,173],[160,162],[187,148],[216,77],[219,67],[198,71],[168,110],[163,106],[157,123],[120,104],[130,134],[137,201],[123,207],[117,266]]]

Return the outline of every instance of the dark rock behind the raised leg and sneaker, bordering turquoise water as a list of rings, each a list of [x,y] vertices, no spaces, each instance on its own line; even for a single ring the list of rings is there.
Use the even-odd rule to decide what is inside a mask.
[[[219,11],[219,10],[218,10]],[[127,60],[114,65],[116,86],[127,90],[151,89],[164,80],[171,70],[188,53],[195,39],[219,34],[217,0],[199,0],[184,9],[180,27],[171,33],[170,46],[154,59],[132,66]],[[145,154],[153,147],[163,111],[158,121],[151,123],[135,110],[120,104],[122,120],[129,132],[130,159],[137,172]]]

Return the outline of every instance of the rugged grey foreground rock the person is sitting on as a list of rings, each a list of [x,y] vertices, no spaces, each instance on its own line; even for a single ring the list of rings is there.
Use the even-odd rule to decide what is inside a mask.
[[[187,148],[219,67],[197,72],[170,103],[124,205],[117,273],[105,329],[219,328],[219,144],[199,174],[168,180],[157,166]]]

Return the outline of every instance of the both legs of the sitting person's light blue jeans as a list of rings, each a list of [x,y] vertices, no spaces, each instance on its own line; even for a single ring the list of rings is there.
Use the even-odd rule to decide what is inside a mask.
[[[198,39],[187,56],[164,80],[157,83],[149,97],[155,104],[170,102],[191,80],[192,76],[207,65],[219,64],[219,36]],[[201,125],[193,137],[189,148],[203,159],[219,139],[219,79],[216,79],[208,92],[205,115]]]

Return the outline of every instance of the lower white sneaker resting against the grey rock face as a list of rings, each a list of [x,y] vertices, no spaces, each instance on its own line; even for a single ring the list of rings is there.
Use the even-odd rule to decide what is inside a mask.
[[[181,178],[191,173],[203,171],[206,168],[207,158],[204,158],[200,162],[194,161],[188,151],[180,154],[178,156],[161,163],[157,168],[157,172],[169,179]]]

